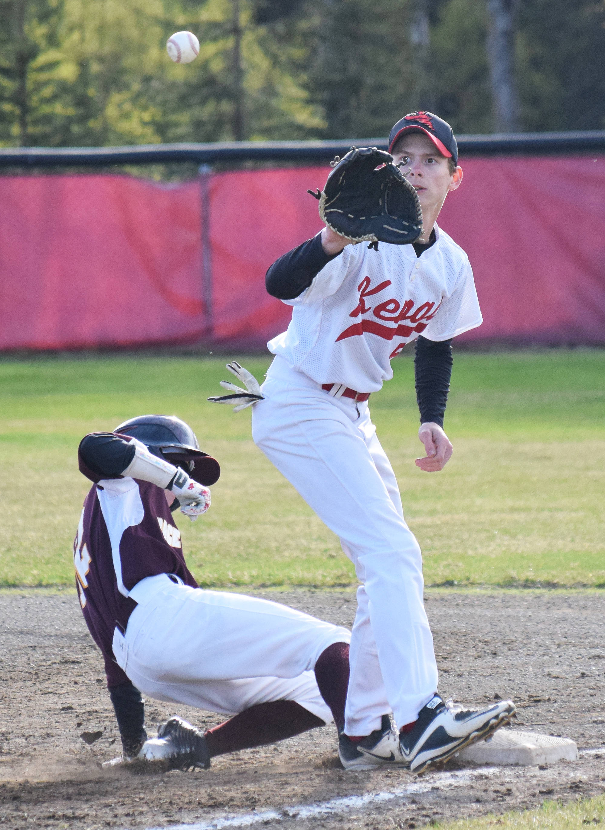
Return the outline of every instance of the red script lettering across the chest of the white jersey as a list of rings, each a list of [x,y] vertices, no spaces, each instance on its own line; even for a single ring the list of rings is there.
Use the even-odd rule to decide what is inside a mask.
[[[392,340],[393,337],[409,337],[413,334],[413,332],[418,332],[419,334],[427,328],[428,321],[432,320],[432,318],[437,314],[437,309],[441,303],[439,303],[436,308],[435,303],[427,301],[421,303],[421,305],[418,305],[416,310],[414,310],[413,300],[405,300],[402,305],[394,297],[391,300],[385,300],[384,302],[379,303],[373,308],[366,303],[366,297],[378,294],[390,285],[391,281],[387,280],[379,283],[375,288],[372,288],[372,281],[368,276],[364,276],[363,280],[359,283],[359,286],[357,286],[357,290],[359,291],[359,303],[354,310],[351,311],[349,317],[363,316],[372,311],[373,316],[378,318],[378,320],[384,320],[394,324],[394,326],[382,325],[381,323],[377,323],[376,320],[372,320],[372,318],[365,317],[363,320],[359,320],[359,323],[349,325],[349,328],[345,329],[342,334],[339,334],[336,338],[336,343],[338,343],[339,340],[344,340],[348,337],[359,337],[359,335],[364,332],[368,332],[368,334],[376,334],[384,340]],[[407,322],[411,325],[403,325],[403,320],[407,320]]]

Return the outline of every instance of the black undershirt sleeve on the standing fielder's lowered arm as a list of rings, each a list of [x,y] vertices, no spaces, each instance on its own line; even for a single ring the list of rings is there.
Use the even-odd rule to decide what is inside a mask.
[[[414,355],[416,400],[421,423],[434,422],[443,426],[452,363],[451,339],[437,343],[421,334],[416,341]]]

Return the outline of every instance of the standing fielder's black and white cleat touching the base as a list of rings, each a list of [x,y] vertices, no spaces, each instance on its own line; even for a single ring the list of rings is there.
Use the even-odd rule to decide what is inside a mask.
[[[463,709],[438,695],[418,714],[414,728],[400,733],[402,757],[415,773],[444,764],[456,752],[478,740],[490,738],[515,715],[513,701],[498,701],[487,709]]]

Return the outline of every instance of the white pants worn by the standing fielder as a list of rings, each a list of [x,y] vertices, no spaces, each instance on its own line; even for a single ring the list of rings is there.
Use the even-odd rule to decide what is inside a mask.
[[[437,690],[422,555],[368,404],[332,398],[276,357],[252,409],[252,437],[339,536],[361,583],[351,635],[347,735],[416,720]]]

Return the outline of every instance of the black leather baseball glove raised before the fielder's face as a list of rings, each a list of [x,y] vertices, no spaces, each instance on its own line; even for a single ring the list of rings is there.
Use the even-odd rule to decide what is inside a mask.
[[[352,147],[330,163],[323,191],[309,190],[320,201],[322,222],[354,242],[409,245],[422,233],[417,193],[393,164],[390,153],[376,147]]]

